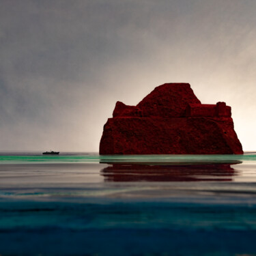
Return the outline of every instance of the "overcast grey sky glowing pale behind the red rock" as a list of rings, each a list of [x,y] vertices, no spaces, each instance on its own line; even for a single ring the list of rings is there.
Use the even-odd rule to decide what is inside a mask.
[[[98,152],[115,102],[162,83],[225,101],[256,150],[255,0],[1,0],[0,150]]]

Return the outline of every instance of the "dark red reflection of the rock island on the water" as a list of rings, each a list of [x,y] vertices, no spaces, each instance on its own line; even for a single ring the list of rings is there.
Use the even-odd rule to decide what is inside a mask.
[[[102,169],[106,182],[197,182],[232,181],[236,171],[232,163],[205,165],[111,164]]]

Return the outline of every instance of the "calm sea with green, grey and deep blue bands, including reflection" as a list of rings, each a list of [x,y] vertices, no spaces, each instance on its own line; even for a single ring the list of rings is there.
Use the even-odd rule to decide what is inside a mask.
[[[0,152],[0,255],[256,255],[256,154]]]

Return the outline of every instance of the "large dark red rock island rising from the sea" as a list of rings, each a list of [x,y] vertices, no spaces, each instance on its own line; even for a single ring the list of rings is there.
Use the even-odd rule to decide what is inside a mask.
[[[117,101],[100,154],[243,154],[225,102],[201,104],[188,83],[165,83],[137,106]]]

